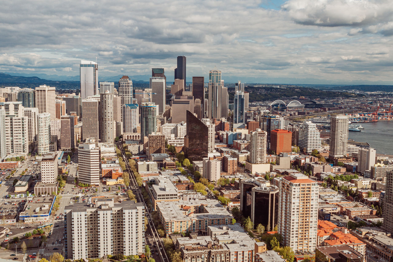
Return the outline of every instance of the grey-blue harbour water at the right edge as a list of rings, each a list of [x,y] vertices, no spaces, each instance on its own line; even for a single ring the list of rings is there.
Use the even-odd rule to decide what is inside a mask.
[[[377,154],[393,155],[393,121],[359,124],[364,129],[361,132],[349,131],[350,139],[369,143],[371,148],[376,149]]]

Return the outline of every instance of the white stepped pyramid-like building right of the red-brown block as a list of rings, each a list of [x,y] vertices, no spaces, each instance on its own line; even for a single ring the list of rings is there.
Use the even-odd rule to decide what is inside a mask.
[[[300,150],[311,153],[312,150],[321,148],[321,132],[317,125],[311,121],[304,121],[299,127],[299,142]]]

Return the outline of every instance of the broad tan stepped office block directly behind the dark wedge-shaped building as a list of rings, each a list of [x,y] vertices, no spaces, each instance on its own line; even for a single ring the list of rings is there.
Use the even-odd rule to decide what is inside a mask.
[[[194,98],[192,96],[173,96],[170,105],[172,124],[186,122],[187,111],[194,112]]]

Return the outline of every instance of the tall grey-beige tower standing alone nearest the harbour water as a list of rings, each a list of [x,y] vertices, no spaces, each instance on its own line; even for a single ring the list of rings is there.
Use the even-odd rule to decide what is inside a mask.
[[[348,153],[348,116],[330,116],[329,158],[346,157]]]

